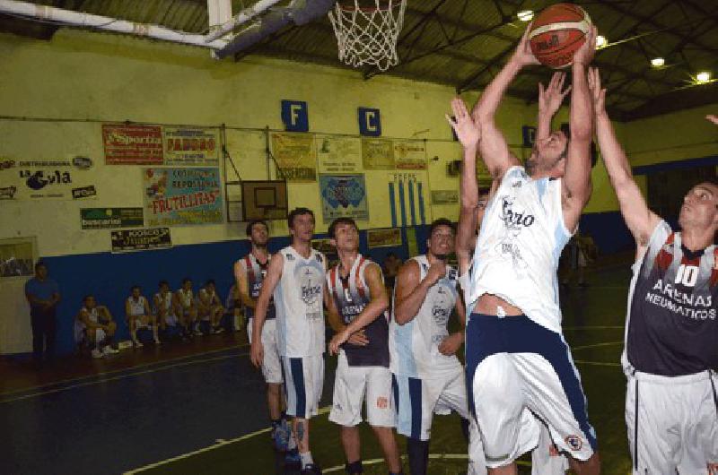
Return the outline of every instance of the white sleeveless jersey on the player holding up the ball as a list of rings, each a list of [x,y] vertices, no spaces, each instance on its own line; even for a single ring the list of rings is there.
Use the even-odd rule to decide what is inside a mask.
[[[561,332],[556,269],[571,234],[560,179],[534,180],[518,166],[506,170],[481,223],[468,304],[494,294],[537,324]]]

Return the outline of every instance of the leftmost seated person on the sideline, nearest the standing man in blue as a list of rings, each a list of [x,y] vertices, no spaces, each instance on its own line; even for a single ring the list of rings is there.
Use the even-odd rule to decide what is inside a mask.
[[[92,358],[118,353],[112,348],[117,324],[108,307],[98,306],[94,296],[87,295],[75,318],[75,340],[84,341],[92,348]]]

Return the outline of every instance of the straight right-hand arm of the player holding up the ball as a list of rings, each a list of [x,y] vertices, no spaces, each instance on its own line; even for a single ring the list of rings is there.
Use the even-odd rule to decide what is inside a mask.
[[[574,54],[573,85],[565,176],[563,184],[564,221],[575,229],[583,206],[591,197],[591,138],[593,137],[593,104],[586,70],[596,51],[596,27],[591,27],[581,48]]]

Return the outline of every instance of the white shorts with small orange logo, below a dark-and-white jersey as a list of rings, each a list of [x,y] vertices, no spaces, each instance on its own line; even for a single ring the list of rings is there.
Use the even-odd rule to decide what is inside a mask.
[[[362,422],[362,403],[366,401],[366,420],[373,427],[396,427],[397,412],[391,400],[391,371],[388,367],[350,367],[344,351],[337,358],[334,396],[329,420],[346,427]]]

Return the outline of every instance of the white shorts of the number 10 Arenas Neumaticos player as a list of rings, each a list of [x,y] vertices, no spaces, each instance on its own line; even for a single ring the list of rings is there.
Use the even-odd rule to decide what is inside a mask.
[[[633,472],[699,475],[718,464],[718,376],[629,375],[626,427]]]

